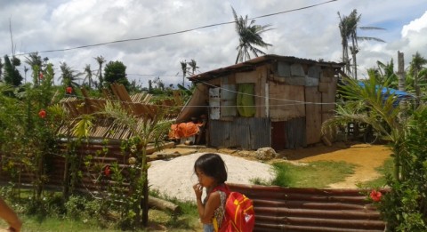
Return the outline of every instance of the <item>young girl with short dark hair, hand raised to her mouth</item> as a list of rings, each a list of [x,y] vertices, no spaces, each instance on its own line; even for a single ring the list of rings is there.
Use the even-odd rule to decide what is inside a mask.
[[[230,190],[225,184],[227,170],[221,156],[207,153],[194,164],[198,183],[193,186],[197,199],[197,211],[204,232],[219,231],[225,225],[225,202]],[[206,197],[202,202],[203,188]],[[224,222],[224,223],[223,223]]]

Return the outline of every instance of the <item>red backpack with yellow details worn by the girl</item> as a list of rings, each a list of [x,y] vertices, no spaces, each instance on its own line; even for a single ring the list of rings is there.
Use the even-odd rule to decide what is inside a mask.
[[[219,231],[252,232],[255,225],[253,201],[241,193],[230,192],[226,186],[216,189],[224,191],[228,196],[225,202],[225,219]]]

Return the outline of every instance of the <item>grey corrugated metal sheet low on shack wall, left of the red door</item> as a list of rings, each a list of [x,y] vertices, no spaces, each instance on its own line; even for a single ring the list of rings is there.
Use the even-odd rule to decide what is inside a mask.
[[[236,117],[233,121],[210,120],[209,144],[215,148],[255,150],[270,147],[270,119]]]

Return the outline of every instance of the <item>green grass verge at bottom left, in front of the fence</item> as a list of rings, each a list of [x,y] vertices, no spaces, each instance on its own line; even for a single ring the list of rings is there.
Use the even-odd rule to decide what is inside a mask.
[[[9,202],[12,208],[15,209],[15,212],[18,213],[20,219],[24,222],[22,231],[23,232],[38,232],[38,231],[122,231],[118,228],[113,227],[113,223],[106,220],[99,221],[99,217],[96,215],[87,216],[87,214],[78,215],[72,217],[70,215],[65,215],[61,210],[58,210],[57,207],[52,207],[52,205],[57,204],[57,200],[60,199],[60,193],[57,192],[46,192],[48,199],[45,202],[43,210],[39,212],[34,212],[34,208],[31,208],[28,212],[28,190],[21,190],[20,204],[12,204]],[[198,220],[197,206],[192,202],[180,202],[176,199],[159,196],[157,192],[151,192],[150,195],[156,196],[158,198],[163,198],[169,202],[177,204],[181,208],[181,212],[173,215],[172,212],[163,212],[157,209],[149,210],[149,226],[148,228],[140,228],[137,230],[132,230],[136,232],[143,231],[177,231],[177,232],[188,232],[188,231],[199,231],[201,225]],[[83,202],[83,198],[77,198],[78,204],[93,204],[93,202]],[[76,203],[75,203],[76,204]],[[74,206],[74,205],[73,205]],[[68,208],[73,212],[76,211],[75,207]],[[71,213],[73,213],[71,212]],[[78,214],[78,213],[77,213]],[[86,216],[85,216],[86,215]],[[3,231],[2,228],[7,228],[7,224],[4,220],[0,219],[0,231]],[[130,230],[128,230],[130,231]]]

